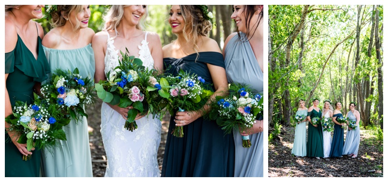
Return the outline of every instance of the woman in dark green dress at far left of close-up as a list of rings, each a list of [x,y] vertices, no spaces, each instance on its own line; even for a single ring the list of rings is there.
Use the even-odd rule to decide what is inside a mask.
[[[50,73],[41,40],[44,32],[39,23],[45,5],[5,5],[5,116],[12,114],[15,101],[32,104],[33,92]],[[17,142],[18,136],[8,131],[5,122],[5,177],[39,177],[41,152]],[[31,155],[24,161],[22,155]]]

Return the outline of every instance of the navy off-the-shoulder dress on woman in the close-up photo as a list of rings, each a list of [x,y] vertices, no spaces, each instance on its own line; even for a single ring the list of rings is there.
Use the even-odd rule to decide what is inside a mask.
[[[186,57],[164,58],[166,73],[178,75],[180,69],[191,71],[205,79],[208,89],[214,91],[206,63],[224,68],[224,58],[217,52],[200,52]],[[215,121],[203,117],[183,126],[184,136],[172,136],[175,114],[170,119],[163,157],[162,177],[233,177],[233,135],[225,135]]]

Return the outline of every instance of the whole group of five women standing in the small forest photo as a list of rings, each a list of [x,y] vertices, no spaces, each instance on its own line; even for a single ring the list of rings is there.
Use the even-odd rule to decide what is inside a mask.
[[[356,158],[360,144],[360,113],[356,103],[350,102],[349,112],[342,114],[341,102],[323,101],[313,98],[313,106],[307,108],[305,100],[299,100],[295,115],[295,138],[291,153],[296,157]],[[334,105],[334,108],[333,108]],[[308,132],[306,132],[308,122]],[[347,130],[344,137],[344,130]]]

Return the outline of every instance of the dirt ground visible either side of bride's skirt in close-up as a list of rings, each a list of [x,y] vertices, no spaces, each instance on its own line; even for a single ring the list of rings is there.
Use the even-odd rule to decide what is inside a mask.
[[[106,154],[104,145],[102,143],[100,124],[101,124],[101,100],[97,99],[95,107],[87,110],[88,125],[89,125],[89,145],[90,152],[92,153],[92,166],[93,166],[93,177],[104,177],[105,169],[107,165]],[[167,131],[169,124],[170,115],[167,113],[162,121],[162,133],[161,133],[161,144],[158,151],[158,164],[159,169],[162,171],[164,147],[167,139]]]

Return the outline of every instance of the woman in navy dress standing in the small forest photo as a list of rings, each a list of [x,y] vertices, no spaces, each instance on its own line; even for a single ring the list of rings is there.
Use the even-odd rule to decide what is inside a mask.
[[[334,135],[333,142],[331,143],[330,157],[342,157],[343,150],[343,123],[339,123],[337,118],[342,117],[341,108],[342,105],[340,102],[336,102],[336,110],[333,114],[334,122]]]

